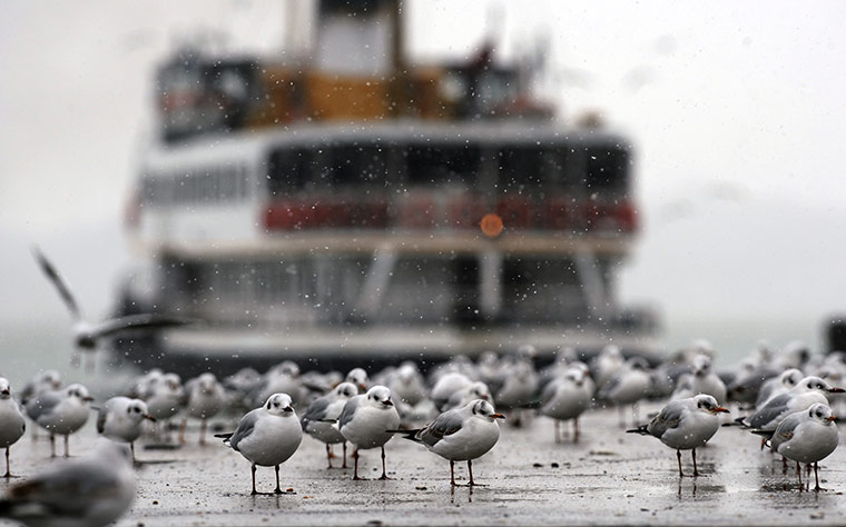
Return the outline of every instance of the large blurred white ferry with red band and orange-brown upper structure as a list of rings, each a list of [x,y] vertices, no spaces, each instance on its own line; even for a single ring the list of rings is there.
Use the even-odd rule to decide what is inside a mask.
[[[201,322],[117,355],[186,374],[527,344],[653,356],[655,316],[614,296],[638,229],[629,141],[562,125],[490,44],[410,63],[397,1],[313,6],[315,44],[287,63],[181,49],[158,70],[117,311]]]

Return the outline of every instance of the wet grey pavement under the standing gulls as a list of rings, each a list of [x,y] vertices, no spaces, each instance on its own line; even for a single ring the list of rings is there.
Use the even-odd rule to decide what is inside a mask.
[[[229,427],[234,422],[224,424]],[[353,481],[352,470],[326,469],[323,444],[304,437],[282,466],[282,488],[293,491],[250,496],[249,464],[217,439],[198,446],[195,429],[190,443],[176,450],[137,446],[144,461],[138,495],[118,525],[846,523],[843,448],[822,464],[820,485],[827,490],[815,493],[799,491],[795,465],[783,474],[780,458],[761,451],[759,438],[739,428],[721,428],[697,450],[697,478],[679,478],[675,450],[657,439],[624,434],[616,411],[593,411],[582,419],[581,430],[573,445],[555,444],[545,418],[521,429],[503,426],[499,444],[473,464],[476,483],[486,486],[472,489],[452,489],[449,463],[400,437],[386,446],[394,478],[388,481]],[[81,454],[94,435],[89,426],[71,439],[71,453]],[[685,471],[691,474],[690,454],[682,455]],[[12,483],[49,463],[48,456],[46,440],[24,437],[12,448],[12,471],[22,476]],[[378,449],[362,451],[360,463],[362,476],[378,477]],[[805,476],[813,487],[813,473]],[[465,463],[456,464],[456,479],[466,481]],[[0,479],[0,493],[7,486]],[[259,467],[257,486],[273,490],[273,468]]]

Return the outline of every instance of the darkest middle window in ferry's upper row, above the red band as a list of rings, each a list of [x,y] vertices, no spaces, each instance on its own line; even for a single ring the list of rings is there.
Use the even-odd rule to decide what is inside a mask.
[[[474,185],[481,165],[475,146],[412,146],[405,157],[412,185]]]

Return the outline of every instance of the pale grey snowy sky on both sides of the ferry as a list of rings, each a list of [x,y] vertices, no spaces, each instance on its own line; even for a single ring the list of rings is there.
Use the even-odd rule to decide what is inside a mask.
[[[131,261],[121,222],[153,68],[185,33],[278,51],[281,3],[4,3],[1,319],[69,329],[32,243],[88,317],[107,316]],[[656,306],[670,347],[746,322],[775,345],[818,344],[846,310],[846,4],[410,1],[412,60],[473,56],[489,6],[498,52],[548,36],[542,88],[564,122],[599,110],[634,142],[642,229],[621,300]]]

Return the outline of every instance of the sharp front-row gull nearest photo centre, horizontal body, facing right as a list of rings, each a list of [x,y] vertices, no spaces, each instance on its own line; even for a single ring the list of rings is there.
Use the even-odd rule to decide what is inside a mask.
[[[473,481],[473,459],[486,454],[500,439],[496,419],[505,416],[496,414],[493,406],[476,399],[465,406],[447,410],[430,425],[416,430],[391,430],[405,434],[406,439],[420,443],[429,450],[450,461],[450,484],[455,487],[455,461],[468,461],[470,481],[468,487],[479,485]]]

